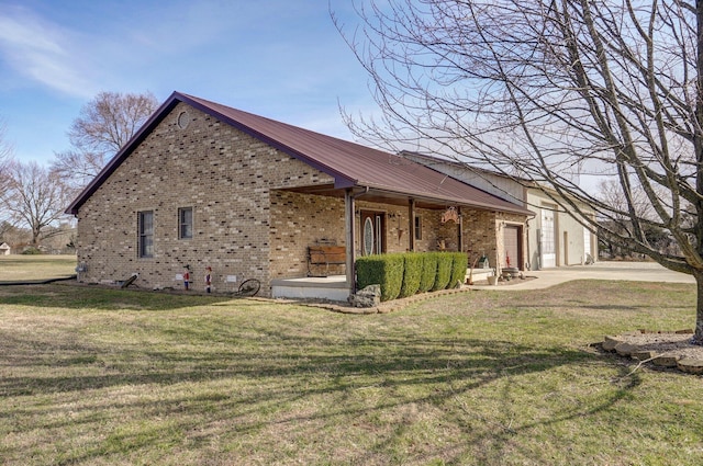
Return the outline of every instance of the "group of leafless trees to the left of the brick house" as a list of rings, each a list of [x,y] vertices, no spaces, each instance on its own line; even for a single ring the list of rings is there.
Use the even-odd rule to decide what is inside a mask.
[[[99,93],[68,129],[71,148],[55,152],[49,167],[18,160],[0,122],[0,242],[56,250],[52,239],[60,237],[67,243],[58,249],[70,250],[75,234],[67,236],[72,219],[66,207],[157,107],[149,92]]]

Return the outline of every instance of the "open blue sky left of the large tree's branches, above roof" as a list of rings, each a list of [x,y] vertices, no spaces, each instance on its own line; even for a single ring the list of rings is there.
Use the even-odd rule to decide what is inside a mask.
[[[349,0],[0,0],[0,118],[15,158],[48,164],[101,91],[172,91],[352,139],[338,104],[372,112],[330,18]]]

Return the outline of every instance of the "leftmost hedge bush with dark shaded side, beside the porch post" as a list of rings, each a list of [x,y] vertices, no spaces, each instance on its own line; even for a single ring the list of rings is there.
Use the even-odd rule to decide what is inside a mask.
[[[357,286],[381,285],[381,300],[395,299],[403,284],[403,254],[365,255],[356,261]]]

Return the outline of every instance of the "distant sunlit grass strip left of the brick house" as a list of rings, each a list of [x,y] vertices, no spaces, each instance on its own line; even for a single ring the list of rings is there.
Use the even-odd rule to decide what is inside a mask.
[[[76,274],[76,255],[0,255],[0,283],[44,281]]]

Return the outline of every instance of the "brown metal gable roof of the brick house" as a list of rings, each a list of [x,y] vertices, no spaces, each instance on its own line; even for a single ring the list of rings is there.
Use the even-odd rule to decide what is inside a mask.
[[[334,178],[335,189],[368,187],[390,195],[533,215],[520,205],[501,200],[403,157],[179,92],[174,92],[170,95],[66,212],[76,215],[83,202],[178,102],[185,102],[327,173]]]

